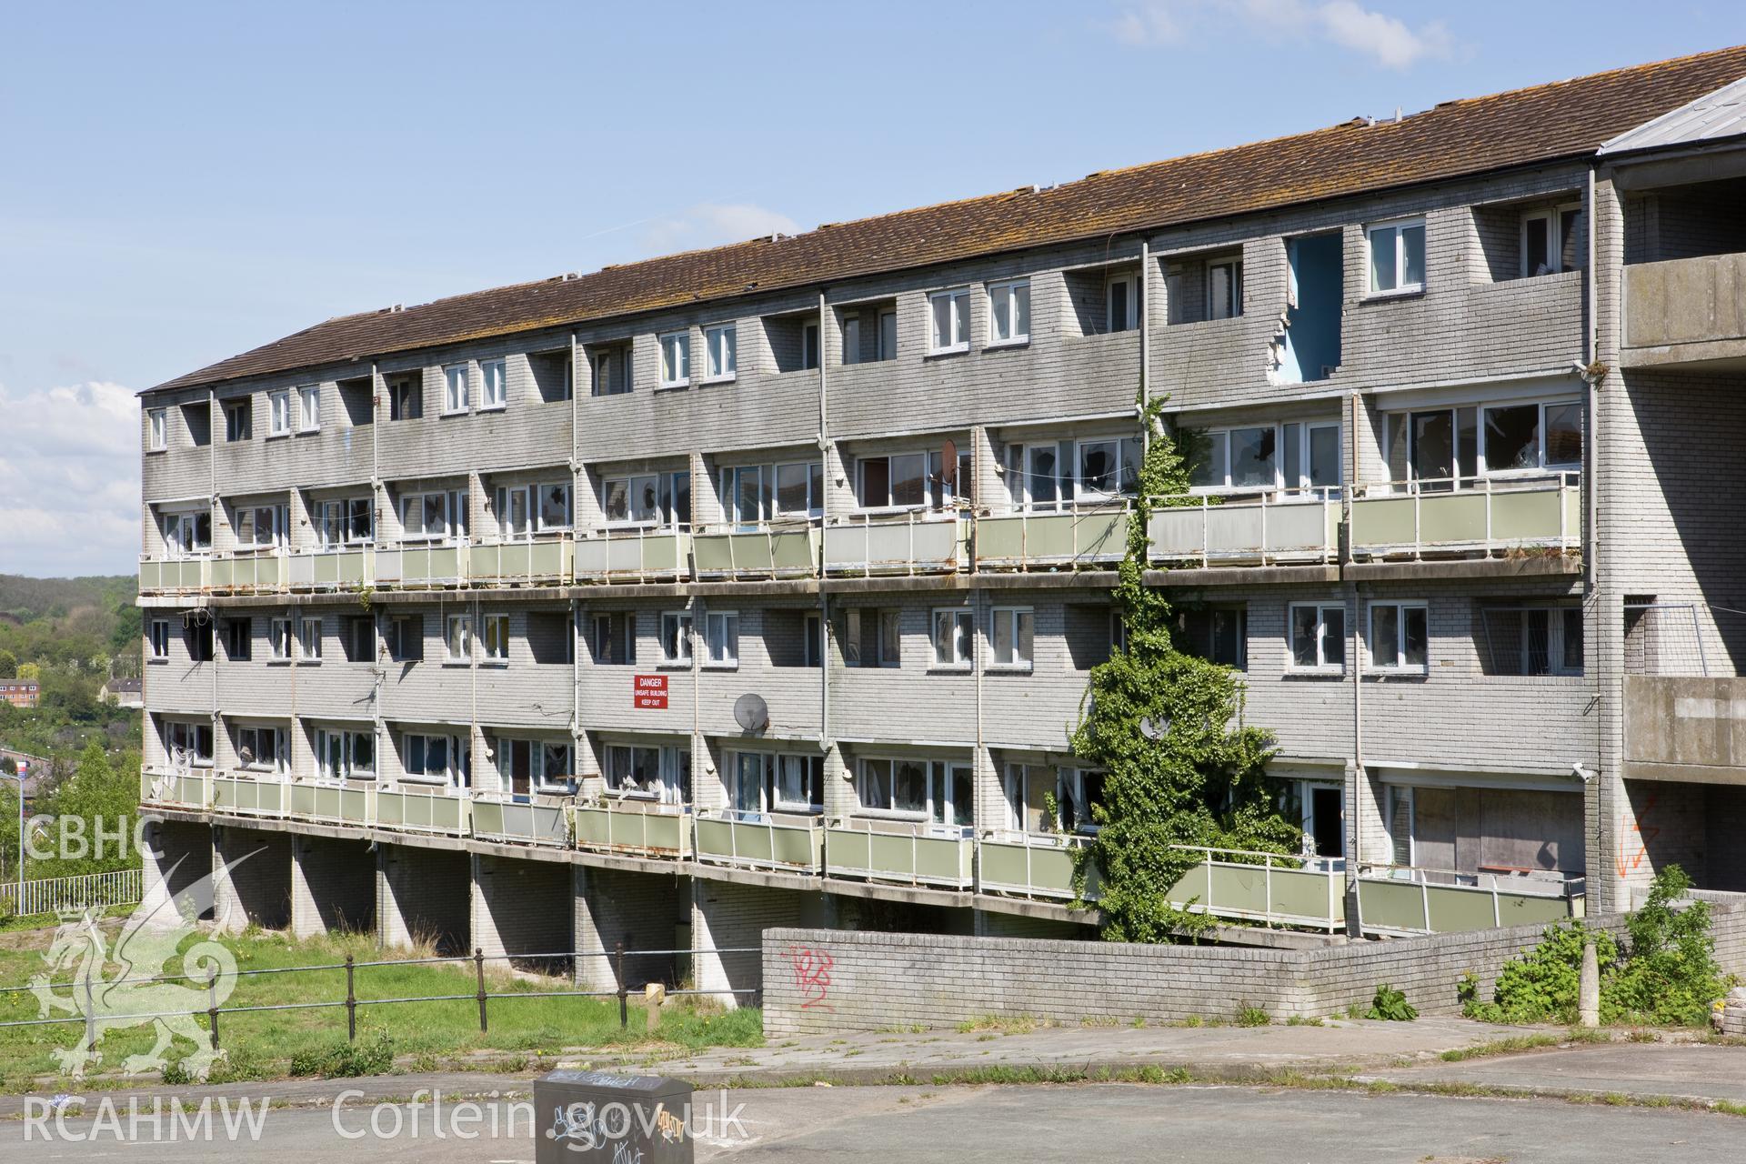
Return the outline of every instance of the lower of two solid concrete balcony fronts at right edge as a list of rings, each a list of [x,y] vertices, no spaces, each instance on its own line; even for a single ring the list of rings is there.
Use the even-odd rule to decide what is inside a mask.
[[[1624,775],[1746,784],[1746,679],[1626,675]]]

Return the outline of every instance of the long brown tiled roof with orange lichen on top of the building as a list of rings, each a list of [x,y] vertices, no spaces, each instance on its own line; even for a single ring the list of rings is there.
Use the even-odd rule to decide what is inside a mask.
[[[370,359],[1578,157],[1743,77],[1746,47],[1722,49],[1446,101],[1399,122],[1355,119],[1289,138],[1103,171],[1046,190],[925,206],[403,311],[339,316],[157,387]]]

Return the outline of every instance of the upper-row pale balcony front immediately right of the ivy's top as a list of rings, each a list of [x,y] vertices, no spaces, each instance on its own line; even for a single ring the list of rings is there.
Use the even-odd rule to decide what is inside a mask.
[[[1154,562],[1278,565],[1339,560],[1339,490],[1156,497],[1145,524]]]

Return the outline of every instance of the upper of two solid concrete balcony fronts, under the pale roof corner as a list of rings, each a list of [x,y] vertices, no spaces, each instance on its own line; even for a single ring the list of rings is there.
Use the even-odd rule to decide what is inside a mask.
[[[1624,366],[1746,361],[1746,255],[1624,269]]]

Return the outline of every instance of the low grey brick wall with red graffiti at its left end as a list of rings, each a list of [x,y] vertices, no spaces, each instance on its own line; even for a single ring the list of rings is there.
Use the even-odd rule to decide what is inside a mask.
[[[1746,907],[1711,909],[1718,960],[1746,976]],[[1624,932],[1624,914],[1589,923]],[[1245,1005],[1285,1021],[1369,1007],[1379,983],[1406,991],[1421,1014],[1460,1014],[1460,977],[1472,970],[1489,998],[1503,963],[1543,930],[1248,949],[772,928],[763,935],[765,1035],[955,1026],[990,1014],[1180,1023],[1229,1019]]]

